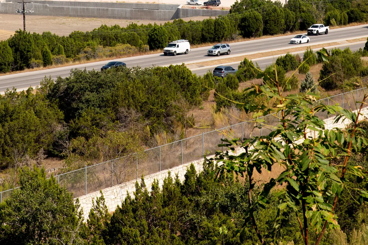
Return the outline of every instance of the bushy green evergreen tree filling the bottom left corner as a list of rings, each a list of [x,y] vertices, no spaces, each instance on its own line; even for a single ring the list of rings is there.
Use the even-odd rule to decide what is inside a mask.
[[[45,169],[24,167],[20,188],[6,199],[0,244],[75,244],[82,223],[79,203]]]

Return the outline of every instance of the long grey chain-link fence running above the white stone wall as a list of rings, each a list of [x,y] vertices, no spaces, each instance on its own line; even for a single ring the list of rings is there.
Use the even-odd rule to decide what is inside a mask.
[[[356,110],[359,99],[364,96],[362,89],[318,100],[316,104],[340,104],[344,109]],[[318,112],[320,119],[328,118],[327,112]],[[197,136],[185,138],[159,147],[147,149],[121,158],[85,166],[68,173],[55,176],[57,182],[80,197],[113,185],[121,184],[152,173],[169,169],[183,163],[201,159],[204,155],[224,151],[219,147],[224,138],[250,138],[269,134],[279,124],[280,115],[263,116],[264,122],[241,122],[219,130],[204,132]],[[17,187],[19,188],[19,187]],[[17,189],[15,188],[15,189]],[[14,189],[1,191],[0,202],[10,196]]]

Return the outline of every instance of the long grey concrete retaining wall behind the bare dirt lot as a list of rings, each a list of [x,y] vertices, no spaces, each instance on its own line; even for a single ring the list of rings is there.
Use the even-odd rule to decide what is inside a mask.
[[[2,0],[0,9],[2,14],[17,14],[14,0]],[[146,4],[146,3],[103,3],[77,1],[32,1],[26,4],[27,9],[33,10],[33,15],[68,16],[84,18],[110,19],[138,19],[168,21],[170,19],[195,16],[226,15],[229,11],[184,9],[178,4]]]

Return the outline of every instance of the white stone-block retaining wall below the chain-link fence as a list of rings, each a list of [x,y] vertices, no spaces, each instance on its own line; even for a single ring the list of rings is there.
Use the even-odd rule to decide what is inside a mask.
[[[362,115],[360,116],[360,118],[364,118],[364,116],[368,115],[368,107],[364,108],[362,110]],[[330,117],[328,119],[325,119],[325,128],[326,129],[332,129],[332,128],[346,128],[346,126],[349,123],[349,120],[345,119],[340,120],[338,123],[334,123],[335,119],[334,117]],[[317,137],[318,133],[316,133],[315,131],[310,131],[307,133],[307,137]],[[303,139],[300,140],[300,142],[302,142]],[[235,155],[240,154],[241,152],[243,152],[244,149],[243,148],[237,148],[236,151],[234,152]],[[207,156],[208,158],[212,158],[213,155]],[[145,184],[146,187],[148,188],[149,191],[151,191],[151,187],[152,187],[152,183],[153,180],[158,180],[160,187],[162,187],[163,185],[163,180],[168,176],[169,171],[171,172],[171,177],[174,178],[175,174],[178,174],[178,177],[180,179],[181,182],[184,181],[184,174],[187,171],[188,167],[191,165],[191,163],[194,164],[195,169],[197,170],[197,173],[201,172],[201,170],[203,169],[203,161],[204,159],[199,159],[198,161],[194,161],[194,162],[190,162],[190,163],[185,163],[183,165],[177,166],[177,167],[173,167],[171,169],[167,169],[158,173],[153,173],[150,174],[148,176],[144,177],[145,180]],[[137,180],[132,180],[123,184],[119,184],[119,185],[115,185],[113,187],[109,187],[106,188],[104,190],[102,190],[103,195],[105,197],[105,202],[107,205],[107,208],[109,209],[109,212],[113,212],[117,205],[120,205],[122,201],[125,200],[125,197],[127,196],[127,192],[129,193],[129,195],[131,197],[134,197],[133,192],[135,191],[135,183]],[[138,183],[140,184],[140,180],[138,180]],[[84,195],[79,197],[79,203],[81,204],[81,209],[83,209],[83,213],[84,213],[84,218],[85,220],[88,218],[88,214],[89,214],[89,210],[91,210],[92,208],[92,200],[94,200],[96,197],[100,197],[100,192],[96,191],[96,192],[92,192],[88,195]]]

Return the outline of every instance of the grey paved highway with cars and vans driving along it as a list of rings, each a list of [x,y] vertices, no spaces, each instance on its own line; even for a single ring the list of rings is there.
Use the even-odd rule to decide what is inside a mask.
[[[368,25],[360,25],[360,26],[351,26],[346,28],[339,28],[330,30],[328,35],[321,34],[319,36],[309,36],[310,42],[303,43],[303,44],[289,44],[289,41],[295,35],[289,36],[282,36],[282,37],[271,37],[265,39],[258,39],[258,40],[250,40],[244,42],[237,42],[237,43],[230,43],[231,46],[231,54],[230,55],[221,55],[220,57],[208,57],[206,55],[206,50],[209,47],[201,47],[201,48],[193,48],[189,54],[178,54],[177,56],[164,56],[162,53],[160,54],[150,54],[150,55],[142,55],[136,57],[129,57],[123,59],[117,59],[119,61],[123,61],[127,64],[128,67],[134,66],[141,66],[142,68],[152,65],[157,66],[167,66],[170,64],[190,64],[195,62],[203,62],[203,61],[210,61],[210,60],[219,60],[224,58],[231,58],[240,55],[247,55],[247,54],[255,54],[260,52],[272,52],[275,50],[282,50],[292,47],[308,47],[314,44],[323,44],[323,43],[330,43],[330,42],[342,42],[344,40],[349,39],[356,39],[361,37],[368,36]],[[346,46],[349,46],[347,44]],[[362,44],[361,47],[363,47]],[[273,61],[273,57],[269,57],[268,59],[255,59],[262,60],[262,62],[258,62],[263,66],[266,66]],[[81,65],[72,65],[72,66],[64,66],[60,68],[52,68],[46,69],[41,71],[32,71],[32,72],[23,72],[23,73],[16,73],[11,75],[4,75],[0,76],[0,91],[4,91],[7,88],[12,89],[13,86],[17,88],[18,91],[28,88],[29,86],[35,87],[40,84],[40,81],[45,78],[45,76],[56,79],[57,77],[61,76],[65,78],[69,76],[71,69],[86,69],[86,70],[100,70],[101,66],[105,65],[109,61],[99,61],[99,62],[91,62],[87,64]],[[239,62],[236,62],[239,63]],[[262,63],[262,64],[261,64]],[[214,63],[215,64],[215,63]],[[215,67],[215,66],[211,66]],[[234,68],[237,65],[234,63]],[[193,72],[197,73],[198,75],[203,75],[210,67],[206,68],[195,68],[192,69]]]

